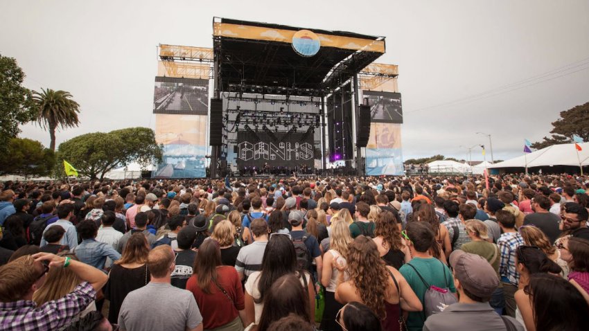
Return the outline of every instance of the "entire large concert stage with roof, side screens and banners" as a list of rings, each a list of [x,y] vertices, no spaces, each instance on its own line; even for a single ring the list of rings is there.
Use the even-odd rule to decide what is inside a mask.
[[[383,53],[385,37],[225,18],[212,49],[160,45],[154,176],[402,171],[398,73],[373,64]]]

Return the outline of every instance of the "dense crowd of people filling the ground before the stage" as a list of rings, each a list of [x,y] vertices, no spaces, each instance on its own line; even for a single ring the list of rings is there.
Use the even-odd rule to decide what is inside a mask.
[[[0,330],[589,325],[589,177],[0,188]]]

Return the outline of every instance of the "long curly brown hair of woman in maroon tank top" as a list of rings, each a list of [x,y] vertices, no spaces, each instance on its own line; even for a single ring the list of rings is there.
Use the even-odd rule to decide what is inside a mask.
[[[348,247],[348,273],[362,302],[385,319],[385,297],[389,273],[380,258],[376,244],[364,235],[359,235]]]

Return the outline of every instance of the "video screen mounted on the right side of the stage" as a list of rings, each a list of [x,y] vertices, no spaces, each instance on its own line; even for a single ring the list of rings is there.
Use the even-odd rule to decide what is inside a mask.
[[[403,123],[401,93],[363,91],[368,98],[372,123]]]

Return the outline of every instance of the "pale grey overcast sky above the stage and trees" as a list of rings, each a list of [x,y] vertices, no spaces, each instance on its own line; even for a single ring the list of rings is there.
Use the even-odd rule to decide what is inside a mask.
[[[154,127],[158,44],[212,47],[213,17],[386,37],[398,64],[404,159],[518,156],[559,112],[589,101],[589,1],[0,0],[0,52],[30,89],[69,91],[87,132]],[[49,133],[21,136],[49,145]],[[464,147],[460,147],[460,146]],[[491,153],[487,152],[490,159]],[[480,148],[473,160],[482,159]]]

